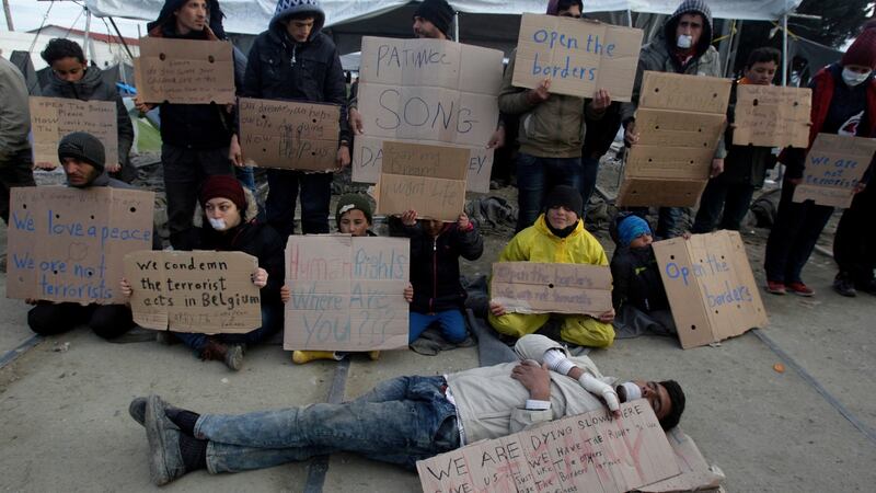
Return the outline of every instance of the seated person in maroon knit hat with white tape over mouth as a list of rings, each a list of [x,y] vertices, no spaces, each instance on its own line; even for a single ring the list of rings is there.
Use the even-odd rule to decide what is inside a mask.
[[[262,288],[262,326],[245,334],[173,334],[201,359],[223,362],[237,371],[243,366],[245,344],[265,341],[283,328],[283,298],[288,296],[283,293],[286,243],[274,228],[255,219],[255,197],[233,176],[208,177],[200,187],[198,203],[204,210],[204,225],[191,232],[194,249],[244,252],[258,259],[252,279]],[[122,289],[130,296],[127,280],[123,280]]]

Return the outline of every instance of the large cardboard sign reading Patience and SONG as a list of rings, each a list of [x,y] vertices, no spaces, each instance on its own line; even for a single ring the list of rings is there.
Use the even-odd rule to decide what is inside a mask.
[[[362,37],[353,181],[376,183],[387,140],[471,150],[468,190],[489,191],[502,59],[496,49],[439,39]]]

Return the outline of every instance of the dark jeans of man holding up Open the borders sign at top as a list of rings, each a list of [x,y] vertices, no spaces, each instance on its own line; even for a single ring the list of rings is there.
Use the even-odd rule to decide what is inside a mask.
[[[517,231],[535,222],[544,205],[544,195],[556,185],[568,185],[580,192],[580,158],[537,158],[517,154]]]

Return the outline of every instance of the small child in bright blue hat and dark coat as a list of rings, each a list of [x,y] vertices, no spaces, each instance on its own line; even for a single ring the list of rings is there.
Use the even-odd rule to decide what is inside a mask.
[[[675,333],[648,222],[636,215],[622,213],[615,225],[616,234],[612,237],[618,248],[611,257],[614,283],[611,300],[618,310],[615,326],[630,335],[646,330]]]

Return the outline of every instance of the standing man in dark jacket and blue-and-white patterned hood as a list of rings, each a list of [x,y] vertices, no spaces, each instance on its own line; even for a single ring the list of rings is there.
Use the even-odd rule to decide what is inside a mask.
[[[250,50],[243,95],[266,100],[296,100],[341,106],[337,167],[349,164],[347,91],[341,58],[332,38],[322,33],[325,13],[316,0],[280,0],[268,30]],[[240,147],[233,159],[242,163]],[[301,230],[328,232],[332,173],[268,170],[267,221],[287,238],[295,232],[296,199],[301,197]],[[299,193],[300,190],[300,193]]]

